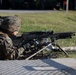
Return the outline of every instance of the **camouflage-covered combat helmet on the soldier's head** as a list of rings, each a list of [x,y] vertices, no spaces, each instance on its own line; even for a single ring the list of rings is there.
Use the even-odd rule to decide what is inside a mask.
[[[21,27],[21,19],[18,18],[18,16],[7,16],[3,19],[0,27],[9,32],[19,31]]]

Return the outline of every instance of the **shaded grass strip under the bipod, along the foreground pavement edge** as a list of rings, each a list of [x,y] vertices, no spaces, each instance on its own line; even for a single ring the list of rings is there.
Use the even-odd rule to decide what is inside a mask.
[[[44,53],[45,56],[48,56],[49,58],[76,58],[76,52],[68,52],[68,57],[63,52],[53,52],[53,51],[46,51]]]

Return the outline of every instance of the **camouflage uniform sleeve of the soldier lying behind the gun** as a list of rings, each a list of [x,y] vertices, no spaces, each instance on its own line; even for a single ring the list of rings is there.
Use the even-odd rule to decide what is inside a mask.
[[[9,37],[0,36],[0,51],[5,59],[15,59],[16,48],[13,46],[12,40]]]

